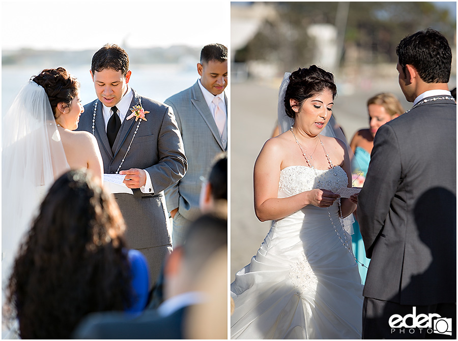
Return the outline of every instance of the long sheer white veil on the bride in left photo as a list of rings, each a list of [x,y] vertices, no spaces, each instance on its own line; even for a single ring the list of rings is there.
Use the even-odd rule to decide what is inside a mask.
[[[68,169],[46,92],[30,81],[2,117],[2,289],[42,198]]]

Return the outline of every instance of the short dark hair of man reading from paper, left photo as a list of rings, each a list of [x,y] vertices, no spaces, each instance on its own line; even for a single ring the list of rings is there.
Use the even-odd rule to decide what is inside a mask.
[[[91,65],[92,74],[103,69],[121,70],[125,77],[129,71],[129,55],[126,50],[116,44],[105,44],[94,54]]]

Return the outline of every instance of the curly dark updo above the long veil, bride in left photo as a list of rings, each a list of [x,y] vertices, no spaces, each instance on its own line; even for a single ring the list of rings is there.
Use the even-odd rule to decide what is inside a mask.
[[[70,105],[79,89],[78,80],[64,68],[43,70],[38,76],[33,76],[31,80],[45,89],[55,118],[59,117],[56,115],[58,103],[63,102]]]

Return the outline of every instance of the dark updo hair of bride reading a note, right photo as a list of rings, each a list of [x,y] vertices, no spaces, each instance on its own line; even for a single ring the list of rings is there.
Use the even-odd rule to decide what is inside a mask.
[[[332,73],[316,65],[294,71],[290,75],[290,83],[284,94],[284,109],[287,115],[293,119],[296,116],[296,112],[290,104],[291,99],[296,100],[299,103],[299,108],[301,108],[307,98],[320,94],[323,90],[331,91],[333,99],[337,94]]]

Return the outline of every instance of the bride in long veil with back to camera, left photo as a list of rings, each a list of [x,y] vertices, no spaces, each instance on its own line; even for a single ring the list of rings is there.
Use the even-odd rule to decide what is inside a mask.
[[[24,85],[2,117],[3,284],[21,237],[54,179],[77,168],[102,177],[95,137],[74,131],[83,111],[78,81],[57,68],[43,70]]]

